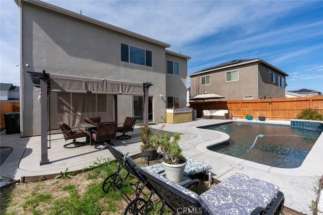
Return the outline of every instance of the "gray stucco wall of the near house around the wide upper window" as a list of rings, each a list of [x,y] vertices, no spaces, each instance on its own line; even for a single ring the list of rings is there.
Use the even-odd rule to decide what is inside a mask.
[[[30,65],[23,68],[21,76],[24,136],[40,134],[37,101],[40,89],[33,87],[26,71],[152,82],[149,95],[166,94],[165,47],[26,2],[22,4],[22,62]],[[152,51],[152,67],[121,62],[121,43]],[[121,107],[118,111],[127,116],[132,114],[131,96],[120,96],[119,102],[127,105],[118,105]],[[165,102],[160,99],[153,102],[154,121],[160,122],[166,110]]]

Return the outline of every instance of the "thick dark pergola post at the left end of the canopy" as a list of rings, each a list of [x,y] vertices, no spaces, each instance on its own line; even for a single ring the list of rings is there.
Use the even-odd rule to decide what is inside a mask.
[[[49,75],[43,70],[39,75],[40,80],[40,125],[41,125],[41,160],[40,165],[49,164],[48,149],[47,149],[47,125],[48,125],[48,113],[47,113],[47,92],[48,92],[48,79]]]

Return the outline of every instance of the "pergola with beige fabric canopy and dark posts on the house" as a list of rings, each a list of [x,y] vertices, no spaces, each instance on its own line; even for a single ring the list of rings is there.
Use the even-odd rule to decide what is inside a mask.
[[[41,160],[40,165],[49,164],[48,160],[48,147],[47,147],[47,132],[50,131],[48,127],[48,110],[50,107],[50,91],[53,92],[83,92],[83,93],[104,93],[112,94],[114,96],[114,120],[118,121],[118,94],[128,95],[143,95],[143,122],[148,123],[148,89],[152,84],[150,82],[137,83],[127,81],[117,81],[109,79],[68,76],[60,74],[49,74],[39,72],[29,72],[30,78],[35,87],[40,87],[41,103],[40,103],[40,116],[41,116]],[[46,95],[46,96],[44,96]],[[44,99],[45,98],[45,99]],[[50,140],[49,140],[50,141]]]

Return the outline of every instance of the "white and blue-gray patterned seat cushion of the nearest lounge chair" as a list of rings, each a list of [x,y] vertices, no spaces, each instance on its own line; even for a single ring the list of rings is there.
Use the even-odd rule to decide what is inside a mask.
[[[237,173],[200,195],[209,214],[250,214],[265,208],[275,198],[279,187]]]

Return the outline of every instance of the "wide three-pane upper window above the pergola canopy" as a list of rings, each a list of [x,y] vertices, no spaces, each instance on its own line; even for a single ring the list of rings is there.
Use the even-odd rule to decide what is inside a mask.
[[[121,61],[152,67],[152,51],[121,43]]]

